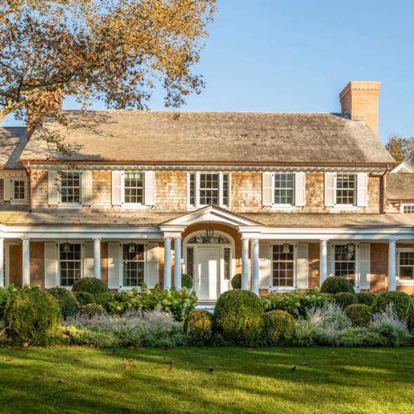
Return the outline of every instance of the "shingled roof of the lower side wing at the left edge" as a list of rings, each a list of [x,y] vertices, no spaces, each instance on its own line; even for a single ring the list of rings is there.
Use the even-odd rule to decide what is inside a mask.
[[[26,126],[0,127],[0,168],[23,168],[17,160],[27,141]]]

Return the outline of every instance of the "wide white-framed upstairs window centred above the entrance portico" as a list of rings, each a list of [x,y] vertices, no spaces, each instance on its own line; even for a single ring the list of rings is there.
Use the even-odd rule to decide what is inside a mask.
[[[187,193],[190,208],[209,204],[230,207],[230,174],[228,172],[189,172]]]

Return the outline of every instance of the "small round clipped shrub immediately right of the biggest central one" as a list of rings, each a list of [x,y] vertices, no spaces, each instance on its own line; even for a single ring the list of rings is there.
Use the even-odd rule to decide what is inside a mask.
[[[290,313],[285,311],[266,312],[263,317],[264,340],[269,345],[289,339],[295,331],[296,322]]]

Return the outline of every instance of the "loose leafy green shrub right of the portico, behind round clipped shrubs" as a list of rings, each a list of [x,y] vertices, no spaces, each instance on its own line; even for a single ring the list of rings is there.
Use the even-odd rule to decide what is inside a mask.
[[[268,311],[286,311],[294,317],[305,316],[306,308],[313,306],[324,306],[332,301],[328,293],[319,293],[317,289],[313,290],[293,290],[292,292],[283,293],[282,295],[272,293],[260,297],[260,302],[265,312]]]

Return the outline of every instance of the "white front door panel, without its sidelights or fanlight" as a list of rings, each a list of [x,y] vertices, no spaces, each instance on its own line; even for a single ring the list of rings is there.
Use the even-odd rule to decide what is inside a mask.
[[[197,248],[196,294],[199,300],[217,299],[217,282],[219,280],[220,248]]]

